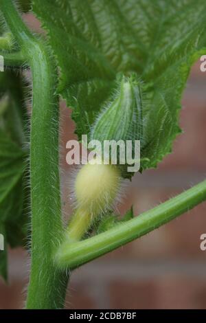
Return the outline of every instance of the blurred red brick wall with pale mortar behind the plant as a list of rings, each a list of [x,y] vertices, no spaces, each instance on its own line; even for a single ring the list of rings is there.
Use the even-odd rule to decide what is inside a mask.
[[[39,31],[31,14],[25,21]],[[205,52],[206,54],[206,52]],[[119,212],[134,205],[135,215],[174,197],[205,179],[206,72],[201,62],[192,68],[183,96],[181,128],[171,155],[156,170],[137,174],[126,188]],[[175,85],[174,85],[175,86]],[[62,201],[71,213],[65,143],[74,138],[74,124],[65,102],[61,113]],[[206,251],[200,236],[206,233],[206,203],[179,219],[84,265],[71,275],[67,309],[206,309]],[[30,260],[23,249],[9,251],[8,285],[0,278],[0,309],[21,309],[25,302]]]

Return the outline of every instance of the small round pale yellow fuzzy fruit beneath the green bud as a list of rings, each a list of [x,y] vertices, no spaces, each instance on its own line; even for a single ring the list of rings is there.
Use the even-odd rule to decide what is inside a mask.
[[[98,216],[111,210],[120,183],[119,169],[97,159],[80,169],[75,181],[77,208],[67,229],[70,241],[80,240]]]

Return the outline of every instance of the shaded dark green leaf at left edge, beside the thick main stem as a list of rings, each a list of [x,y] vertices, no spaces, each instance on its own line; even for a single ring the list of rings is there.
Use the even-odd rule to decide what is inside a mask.
[[[4,236],[5,250],[8,244],[25,244],[24,158],[21,148],[0,130],[0,234]],[[6,280],[6,251],[1,252],[0,261],[0,274]]]

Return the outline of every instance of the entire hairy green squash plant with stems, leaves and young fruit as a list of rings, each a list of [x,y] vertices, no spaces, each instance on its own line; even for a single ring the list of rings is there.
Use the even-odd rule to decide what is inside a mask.
[[[140,140],[140,171],[156,168],[181,132],[183,89],[190,68],[206,52],[206,4],[205,0],[32,0],[31,10],[45,30],[40,35],[21,19],[23,8],[30,8],[26,2],[0,0],[0,54],[8,69],[0,74],[0,232],[5,245],[25,245],[30,252],[26,308],[59,309],[71,271],[206,199],[203,181],[144,214],[133,216],[130,210],[119,220],[110,205],[119,181],[133,174],[118,166],[87,165],[76,179],[79,205],[65,227],[59,185],[60,97],[72,107],[79,140],[82,134],[100,140],[104,135]],[[32,82],[15,73],[22,69],[30,69]],[[125,119],[117,135],[126,102],[122,80],[132,80],[139,99],[134,91],[128,102],[130,122]],[[118,104],[113,102],[114,93],[122,98],[115,98]],[[25,109],[28,98],[31,118]],[[108,113],[108,118],[102,107],[108,111],[111,106],[116,114]],[[93,225],[93,214],[99,227]],[[6,279],[6,250],[0,257]]]

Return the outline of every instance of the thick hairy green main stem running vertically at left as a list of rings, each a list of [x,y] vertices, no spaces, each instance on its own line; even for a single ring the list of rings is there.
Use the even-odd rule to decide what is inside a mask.
[[[14,4],[0,0],[6,23],[32,70],[33,102],[30,148],[32,267],[27,309],[64,306],[67,274],[54,264],[62,240],[58,170],[57,72],[47,46],[24,25]]]

